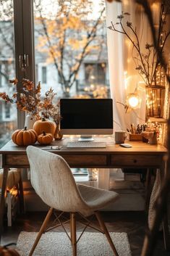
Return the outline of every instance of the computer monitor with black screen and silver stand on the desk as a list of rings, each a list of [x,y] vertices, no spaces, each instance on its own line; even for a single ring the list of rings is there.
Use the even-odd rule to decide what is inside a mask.
[[[113,133],[112,99],[60,99],[60,114],[62,134],[93,140],[92,135]]]

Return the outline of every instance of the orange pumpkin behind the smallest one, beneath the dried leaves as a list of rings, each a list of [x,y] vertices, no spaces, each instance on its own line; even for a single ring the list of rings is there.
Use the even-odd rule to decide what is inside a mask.
[[[54,136],[54,133],[56,131],[56,123],[54,123],[51,120],[46,120],[45,118],[43,118],[42,120],[35,121],[33,129],[36,131],[38,135],[45,131],[46,133],[51,133]]]

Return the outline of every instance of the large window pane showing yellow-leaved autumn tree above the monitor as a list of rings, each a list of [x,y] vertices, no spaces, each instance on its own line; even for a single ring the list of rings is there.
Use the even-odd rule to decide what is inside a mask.
[[[102,0],[34,1],[36,82],[43,94],[52,87],[59,98],[109,96],[104,7]]]

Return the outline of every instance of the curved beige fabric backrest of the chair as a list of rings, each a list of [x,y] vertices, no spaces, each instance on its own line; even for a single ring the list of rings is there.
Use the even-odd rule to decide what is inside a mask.
[[[64,212],[77,212],[88,207],[63,157],[35,146],[27,146],[27,157],[30,181],[43,202]]]

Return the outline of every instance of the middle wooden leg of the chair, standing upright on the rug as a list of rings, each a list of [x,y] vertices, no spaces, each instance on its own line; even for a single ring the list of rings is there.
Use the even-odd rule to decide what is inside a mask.
[[[72,256],[77,256],[75,212],[70,212],[70,234],[71,234],[71,242],[72,242]]]

